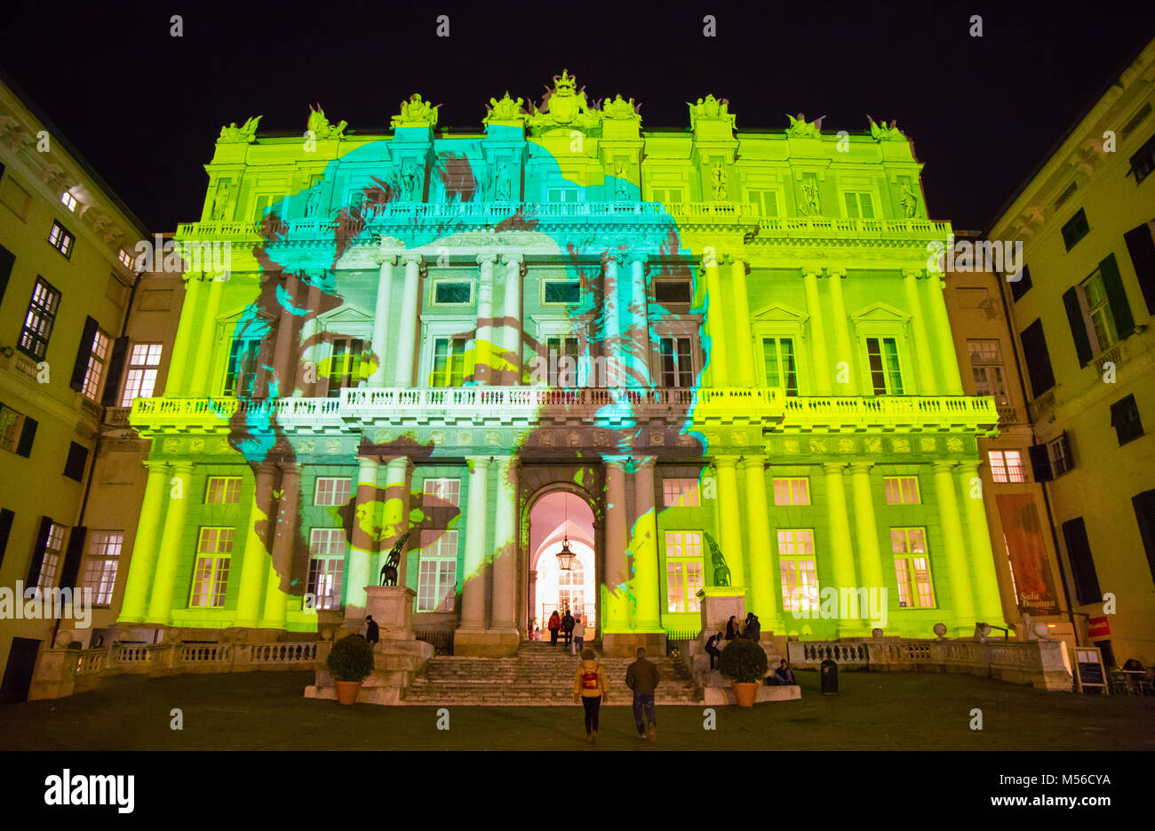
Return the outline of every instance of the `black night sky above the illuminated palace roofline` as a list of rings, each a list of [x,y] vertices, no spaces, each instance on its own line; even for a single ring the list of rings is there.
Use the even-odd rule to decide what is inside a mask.
[[[20,2],[0,64],[150,230],[200,217],[223,124],[263,114],[261,131],[299,134],[320,102],[373,132],[418,91],[441,126],[479,132],[490,97],[539,102],[562,67],[590,102],[640,102],[643,128],[688,127],[686,102],[707,92],[739,129],[799,111],[827,133],[896,118],[931,216],[982,230],[1155,35],[1150,2],[782,5]]]

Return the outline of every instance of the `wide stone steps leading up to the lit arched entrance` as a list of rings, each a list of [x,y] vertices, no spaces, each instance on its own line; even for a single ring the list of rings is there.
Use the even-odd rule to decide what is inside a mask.
[[[601,653],[598,644],[588,644]],[[437,655],[425,668],[424,676],[413,678],[402,696],[409,705],[480,705],[480,706],[573,706],[574,673],[581,659],[569,654],[562,644],[523,641],[514,658],[464,658]],[[665,655],[649,656],[662,682],[657,687],[657,705],[699,704],[701,698],[690,675]],[[633,693],[626,687],[626,668],[632,658],[603,658],[610,693],[604,704],[628,705]]]

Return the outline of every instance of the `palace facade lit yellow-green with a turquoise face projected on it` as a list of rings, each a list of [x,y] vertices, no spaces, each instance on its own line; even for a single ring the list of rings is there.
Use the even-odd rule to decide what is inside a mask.
[[[642,129],[562,73],[477,132],[417,95],[381,135],[222,128],[164,394],[129,415],[119,625],[359,625],[395,550],[419,633],[511,654],[575,599],[566,537],[611,654],[696,632],[716,586],[763,636],[1005,625],[998,411],[963,391],[910,141],[688,114]]]

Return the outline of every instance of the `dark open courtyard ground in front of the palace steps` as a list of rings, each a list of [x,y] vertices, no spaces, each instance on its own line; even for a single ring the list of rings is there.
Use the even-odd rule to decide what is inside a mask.
[[[3,750],[593,750],[582,710],[341,707],[304,698],[312,673],[117,677],[72,698],[0,707]],[[753,710],[658,707],[658,741],[634,737],[629,707],[603,707],[599,750],[1155,750],[1155,698],[1041,692],[966,675],[843,673],[822,696]],[[170,711],[184,711],[184,729]],[[971,730],[971,710],[983,730]]]

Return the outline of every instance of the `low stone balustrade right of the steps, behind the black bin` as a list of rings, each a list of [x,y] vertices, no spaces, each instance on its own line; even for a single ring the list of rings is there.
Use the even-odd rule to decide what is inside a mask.
[[[813,669],[832,659],[840,668],[872,673],[964,673],[1041,690],[1071,691],[1060,640],[791,640],[790,663]]]

